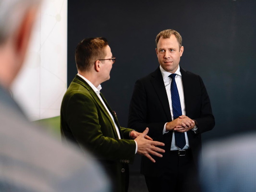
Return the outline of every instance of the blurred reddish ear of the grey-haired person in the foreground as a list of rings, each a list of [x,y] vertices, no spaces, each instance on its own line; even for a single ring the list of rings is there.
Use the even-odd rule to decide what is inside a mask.
[[[37,17],[37,8],[29,9],[23,16],[20,26],[17,28],[16,35],[14,36],[14,48],[17,53],[24,60],[31,32],[33,29],[33,24],[35,23]]]

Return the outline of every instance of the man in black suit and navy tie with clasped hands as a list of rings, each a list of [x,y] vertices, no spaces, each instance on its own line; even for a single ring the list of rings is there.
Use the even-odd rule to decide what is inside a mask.
[[[201,77],[179,66],[184,50],[180,34],[164,30],[156,46],[160,66],[135,83],[128,127],[138,131],[148,127],[148,135],[165,144],[166,152],[155,164],[142,157],[141,173],[149,192],[186,191],[191,183],[197,187],[191,180],[201,133],[211,130],[215,121]]]

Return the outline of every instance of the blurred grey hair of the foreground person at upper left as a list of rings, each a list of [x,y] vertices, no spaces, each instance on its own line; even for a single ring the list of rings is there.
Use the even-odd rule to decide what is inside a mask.
[[[0,44],[16,31],[29,8],[41,0],[0,0]]]

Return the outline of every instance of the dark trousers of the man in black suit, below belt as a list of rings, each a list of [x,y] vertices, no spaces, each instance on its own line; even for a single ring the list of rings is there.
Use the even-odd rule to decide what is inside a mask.
[[[160,177],[145,176],[149,192],[200,192],[197,184],[197,171],[191,150],[185,156],[177,151],[165,152],[168,159],[164,174]]]

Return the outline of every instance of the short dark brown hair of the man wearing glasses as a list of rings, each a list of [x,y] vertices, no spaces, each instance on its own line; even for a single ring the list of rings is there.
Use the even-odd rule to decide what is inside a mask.
[[[88,71],[96,60],[104,59],[105,47],[109,45],[104,37],[85,38],[75,49],[75,63],[77,70]]]

